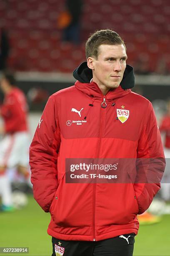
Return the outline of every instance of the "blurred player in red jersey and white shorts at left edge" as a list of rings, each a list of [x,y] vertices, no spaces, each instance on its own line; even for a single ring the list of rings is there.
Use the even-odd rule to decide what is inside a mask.
[[[29,136],[27,125],[27,102],[25,95],[15,87],[15,77],[4,72],[0,89],[4,93],[4,102],[0,106],[0,115],[4,124],[0,126],[0,195],[3,211],[12,209],[10,181],[6,169],[17,167],[26,178],[29,176]]]

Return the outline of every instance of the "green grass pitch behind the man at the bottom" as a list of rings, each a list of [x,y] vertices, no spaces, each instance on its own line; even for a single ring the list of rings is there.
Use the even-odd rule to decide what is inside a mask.
[[[28,205],[15,212],[0,212],[0,247],[29,247],[29,253],[8,255],[50,256],[51,237],[47,235],[50,214],[41,210],[30,196]],[[134,256],[170,256],[170,215],[153,225],[140,226],[135,238]],[[0,254],[5,256],[7,253]]]

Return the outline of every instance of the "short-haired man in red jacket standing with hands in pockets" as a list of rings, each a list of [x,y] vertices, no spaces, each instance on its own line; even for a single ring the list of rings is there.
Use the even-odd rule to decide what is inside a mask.
[[[122,38],[110,29],[96,31],[86,42],[86,57],[73,73],[75,85],[49,98],[37,126],[30,146],[34,197],[51,214],[52,256],[132,255],[137,215],[160,189],[155,183],[157,168],[162,173],[165,167],[160,133],[151,103],[130,90],[134,74]],[[140,162],[139,171],[146,166],[148,173],[140,174],[143,179],[137,174],[133,184],[135,169],[127,162],[136,158],[155,160],[152,184],[143,182],[150,170]],[[116,159],[124,182],[67,179],[67,162],[79,159],[97,164]]]

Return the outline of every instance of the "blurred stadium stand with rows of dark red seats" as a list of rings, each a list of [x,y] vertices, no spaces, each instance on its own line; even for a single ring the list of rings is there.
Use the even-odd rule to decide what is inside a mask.
[[[129,64],[140,56],[154,72],[160,53],[170,70],[169,0],[86,0],[82,16],[82,44],[63,44],[57,29],[62,0],[0,1],[0,26],[12,46],[9,65],[18,71],[72,72],[85,60],[84,46],[96,29],[112,28],[125,38]]]

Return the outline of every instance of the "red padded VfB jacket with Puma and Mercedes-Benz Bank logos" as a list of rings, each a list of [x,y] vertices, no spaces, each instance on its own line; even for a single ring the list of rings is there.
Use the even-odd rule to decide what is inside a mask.
[[[160,184],[66,183],[66,158],[155,159],[152,173],[162,173],[163,147],[151,103],[121,86],[103,96],[95,82],[77,81],[49,98],[30,146],[34,197],[51,214],[49,235],[99,241],[137,234],[137,215]]]

